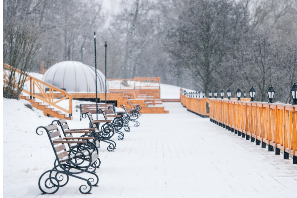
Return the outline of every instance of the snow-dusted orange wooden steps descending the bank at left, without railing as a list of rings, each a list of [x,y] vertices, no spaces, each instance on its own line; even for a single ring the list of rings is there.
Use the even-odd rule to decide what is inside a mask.
[[[29,96],[23,96],[23,94],[21,94],[19,99],[29,101],[33,107],[43,111],[43,114],[45,116],[52,116],[59,119],[72,120],[72,117],[69,117],[67,114],[62,113],[59,110],[55,110],[54,108],[51,108],[49,105],[44,105],[42,104],[42,102],[37,102],[35,99],[30,99]]]

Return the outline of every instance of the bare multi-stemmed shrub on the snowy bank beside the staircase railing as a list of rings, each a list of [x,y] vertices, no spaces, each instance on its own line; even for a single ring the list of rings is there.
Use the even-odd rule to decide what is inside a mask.
[[[3,84],[3,97],[19,97],[40,43],[40,32],[35,27],[13,20],[7,21],[3,27],[3,63],[9,64],[11,70]]]

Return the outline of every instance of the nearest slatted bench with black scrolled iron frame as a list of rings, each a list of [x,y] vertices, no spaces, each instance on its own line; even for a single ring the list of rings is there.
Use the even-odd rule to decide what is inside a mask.
[[[62,137],[57,125],[40,126],[36,129],[38,135],[46,133],[55,154],[55,166],[53,169],[45,171],[39,178],[38,186],[43,194],[54,194],[60,187],[65,186],[69,181],[69,176],[86,182],[80,186],[82,194],[89,194],[92,186],[97,186],[99,178],[96,173],[89,169],[96,169],[98,160],[98,149],[95,151],[86,146],[90,137]],[[69,146],[70,144],[77,144]],[[42,153],[42,152],[41,152]],[[82,177],[81,173],[87,173],[87,177]],[[90,179],[91,178],[91,179]]]

